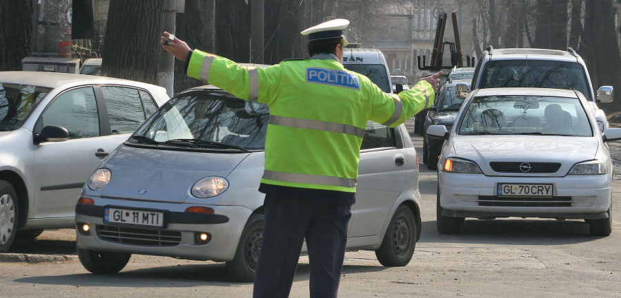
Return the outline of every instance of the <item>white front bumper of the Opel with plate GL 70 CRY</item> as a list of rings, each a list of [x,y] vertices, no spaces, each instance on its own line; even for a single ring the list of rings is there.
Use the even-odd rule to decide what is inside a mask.
[[[481,206],[495,200],[497,183],[553,184],[561,203],[503,203]],[[611,205],[611,175],[566,175],[565,177],[487,176],[438,171],[442,215],[451,217],[542,217],[564,219],[607,218]],[[542,199],[545,201],[546,199]],[[503,205],[501,204],[501,205]],[[513,204],[512,206],[509,206]]]

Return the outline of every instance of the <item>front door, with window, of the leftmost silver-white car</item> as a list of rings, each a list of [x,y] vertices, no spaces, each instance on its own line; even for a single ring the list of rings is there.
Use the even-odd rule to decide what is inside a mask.
[[[105,156],[108,142],[99,114],[100,98],[92,86],[63,92],[37,120],[34,134],[43,127],[59,125],[69,132],[64,142],[43,142],[34,146],[35,218],[73,217],[83,184]],[[97,154],[97,155],[96,155]]]

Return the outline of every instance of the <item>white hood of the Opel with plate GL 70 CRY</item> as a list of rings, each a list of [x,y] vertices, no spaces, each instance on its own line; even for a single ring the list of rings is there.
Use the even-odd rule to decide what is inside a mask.
[[[455,156],[477,162],[486,175],[506,174],[492,171],[489,162],[560,162],[561,167],[556,175],[565,175],[576,162],[595,158],[598,146],[599,142],[594,137],[455,136],[453,138]]]

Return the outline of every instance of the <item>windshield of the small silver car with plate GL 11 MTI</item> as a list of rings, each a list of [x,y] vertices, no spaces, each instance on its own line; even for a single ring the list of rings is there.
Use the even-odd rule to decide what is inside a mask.
[[[130,142],[263,150],[268,118],[267,105],[223,90],[184,92],[146,120]]]

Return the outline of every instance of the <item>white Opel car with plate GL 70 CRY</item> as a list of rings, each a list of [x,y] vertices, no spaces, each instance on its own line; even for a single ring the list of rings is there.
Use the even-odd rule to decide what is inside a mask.
[[[606,142],[621,129],[598,129],[580,92],[542,88],[477,89],[469,94],[438,162],[437,229],[458,233],[466,217],[585,220],[592,235],[611,233],[612,162]]]

